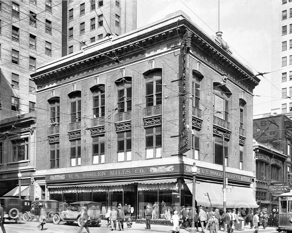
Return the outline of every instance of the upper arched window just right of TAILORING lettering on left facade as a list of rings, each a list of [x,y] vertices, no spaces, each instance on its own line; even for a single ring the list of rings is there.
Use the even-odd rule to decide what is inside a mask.
[[[122,78],[117,82],[118,87],[118,113],[132,110],[132,79],[131,77]]]

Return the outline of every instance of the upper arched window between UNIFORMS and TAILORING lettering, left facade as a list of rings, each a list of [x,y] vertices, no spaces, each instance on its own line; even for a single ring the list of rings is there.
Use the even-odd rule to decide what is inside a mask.
[[[105,86],[100,86],[92,91],[93,118],[105,116]]]

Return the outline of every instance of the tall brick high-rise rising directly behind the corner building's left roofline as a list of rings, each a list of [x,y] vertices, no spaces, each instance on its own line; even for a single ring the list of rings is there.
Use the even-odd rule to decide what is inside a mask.
[[[137,28],[137,1],[63,1],[62,56]],[[79,41],[79,42],[78,42]]]

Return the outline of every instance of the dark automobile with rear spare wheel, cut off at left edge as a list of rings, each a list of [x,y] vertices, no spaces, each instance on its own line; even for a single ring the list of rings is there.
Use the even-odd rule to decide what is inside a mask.
[[[1,207],[4,209],[4,218],[18,220],[22,213],[29,211],[32,201],[20,198],[0,198]]]

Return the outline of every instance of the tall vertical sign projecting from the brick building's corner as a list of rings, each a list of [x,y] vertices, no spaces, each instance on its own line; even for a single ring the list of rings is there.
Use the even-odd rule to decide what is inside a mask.
[[[181,81],[182,81],[182,117],[180,120],[181,132],[179,137],[178,153],[183,154],[192,148],[192,115],[190,114],[191,104],[191,82],[190,82],[190,67],[189,67],[189,51],[191,44],[192,32],[188,31],[183,36],[180,46],[180,56],[182,59]]]

